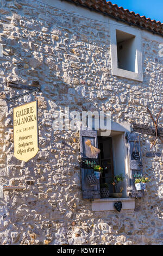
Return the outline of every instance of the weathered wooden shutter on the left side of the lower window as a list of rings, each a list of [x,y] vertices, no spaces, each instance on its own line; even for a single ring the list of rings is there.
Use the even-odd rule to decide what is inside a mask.
[[[99,180],[97,185],[90,186],[87,184],[86,176],[93,173],[92,167],[99,164],[97,157],[91,157],[91,150],[85,145],[85,142],[89,139],[91,144],[98,148],[97,145],[97,131],[82,131],[80,130],[80,154],[81,154],[81,173],[82,173],[82,191],[83,199],[100,198]]]

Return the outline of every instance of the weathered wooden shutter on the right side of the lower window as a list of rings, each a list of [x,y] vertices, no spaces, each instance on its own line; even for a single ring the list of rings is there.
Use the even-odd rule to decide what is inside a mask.
[[[139,133],[127,132],[128,157],[130,164],[130,197],[143,197],[144,191],[137,191],[135,188],[135,179],[143,176],[142,155],[140,147]],[[134,154],[136,153],[136,154]]]

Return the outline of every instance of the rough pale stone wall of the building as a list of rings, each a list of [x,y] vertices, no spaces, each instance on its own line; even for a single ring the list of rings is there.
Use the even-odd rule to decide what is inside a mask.
[[[143,82],[112,76],[109,25],[98,22],[101,15],[96,15],[91,20],[37,1],[1,0],[0,184],[25,186],[4,190],[0,199],[2,245],[163,242],[162,157],[146,157],[154,137],[141,135],[143,172],[152,178],[145,198],[136,199],[134,211],[92,212],[90,200],[82,199],[79,132],[52,129],[53,113],[65,106],[79,112],[110,110],[113,121],[146,125],[153,125],[146,107],[156,115],[162,106],[159,40],[150,33],[149,39],[143,36]],[[35,81],[40,92],[6,102],[25,92],[7,87],[7,82]],[[40,150],[25,163],[14,157],[12,109],[35,99]],[[162,121],[163,113],[160,127]],[[159,139],[153,150],[162,151]]]

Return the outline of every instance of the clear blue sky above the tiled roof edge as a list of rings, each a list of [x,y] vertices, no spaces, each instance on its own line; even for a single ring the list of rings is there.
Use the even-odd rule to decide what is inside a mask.
[[[109,2],[106,0],[106,2]],[[112,0],[112,4],[163,23],[163,0]]]

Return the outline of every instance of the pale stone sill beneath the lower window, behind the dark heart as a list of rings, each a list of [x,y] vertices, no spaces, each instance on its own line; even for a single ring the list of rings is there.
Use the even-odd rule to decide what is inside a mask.
[[[114,211],[114,203],[122,202],[122,210],[134,210],[135,198],[99,198],[92,201],[92,211]]]

